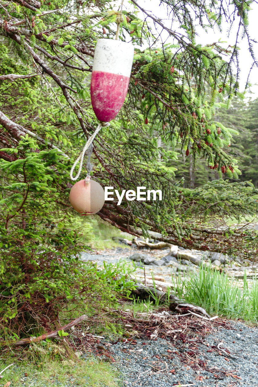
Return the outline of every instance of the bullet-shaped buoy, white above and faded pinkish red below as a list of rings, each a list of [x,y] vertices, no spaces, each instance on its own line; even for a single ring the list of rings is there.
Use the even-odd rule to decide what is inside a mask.
[[[91,75],[91,104],[99,121],[110,122],[121,109],[133,57],[131,43],[115,39],[97,41]]]

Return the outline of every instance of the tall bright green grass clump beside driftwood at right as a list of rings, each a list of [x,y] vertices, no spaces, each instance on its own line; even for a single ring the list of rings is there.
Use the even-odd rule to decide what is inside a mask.
[[[241,286],[224,272],[204,265],[198,273],[172,276],[172,283],[179,298],[205,308],[210,315],[257,323],[258,281],[255,278],[248,282],[245,274]]]

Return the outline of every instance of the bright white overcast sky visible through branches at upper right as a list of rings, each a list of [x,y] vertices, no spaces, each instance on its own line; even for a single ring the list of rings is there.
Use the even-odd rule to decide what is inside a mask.
[[[148,10],[151,14],[155,15],[155,17],[167,19],[167,10],[165,7],[159,6],[160,2],[158,0],[138,0],[138,4],[141,7],[143,7],[145,10]],[[249,12],[249,33],[250,33],[251,37],[253,39],[255,39],[256,37],[258,38],[258,33],[257,33],[257,31],[258,31],[258,26],[257,26],[257,24],[258,24],[258,4],[253,3],[251,5],[251,7],[252,7],[252,10]],[[127,2],[124,2],[124,9],[132,10],[131,6],[129,6]],[[140,14],[139,14],[139,16],[141,17]],[[167,20],[167,23],[165,22],[165,24],[167,24],[167,26],[170,27],[168,20]],[[237,18],[235,25],[233,26],[232,31],[230,32],[229,37],[227,36],[227,30],[229,28],[229,25],[226,22],[224,22],[224,25],[222,26],[222,29],[223,29],[222,33],[220,33],[218,31],[218,29],[215,29],[214,31],[212,31],[210,29],[209,33],[206,33],[205,31],[203,31],[203,29],[201,27],[197,28],[199,37],[196,39],[196,41],[197,41],[197,43],[201,43],[202,45],[205,45],[207,43],[213,43],[213,42],[218,41],[220,39],[221,41],[227,42],[227,44],[225,44],[225,47],[227,47],[228,45],[234,45],[238,24],[239,24],[239,17]],[[179,25],[176,25],[174,23],[172,28],[174,30],[176,30],[179,28]],[[184,33],[184,30],[180,29],[180,32]],[[165,32],[162,34],[163,40],[165,40],[167,37],[165,34],[166,34]],[[250,53],[248,51],[247,39],[243,38],[243,40],[241,40],[241,36],[242,36],[242,34],[240,34],[240,36],[239,36],[239,48],[240,48],[239,63],[240,63],[240,69],[241,69],[239,89],[240,89],[240,91],[244,91],[246,79],[247,79],[247,76],[249,73],[249,68],[251,67],[251,64],[252,64],[252,59],[251,59]],[[169,39],[172,39],[172,38],[170,37]],[[256,45],[253,46],[253,49],[256,53],[256,58],[258,58],[258,44],[257,43],[256,43]],[[258,68],[254,68],[252,70],[251,77],[249,78],[249,81],[253,85],[251,87],[251,91],[253,92],[251,97],[257,98],[258,97]],[[255,84],[257,84],[257,85],[255,85]]]

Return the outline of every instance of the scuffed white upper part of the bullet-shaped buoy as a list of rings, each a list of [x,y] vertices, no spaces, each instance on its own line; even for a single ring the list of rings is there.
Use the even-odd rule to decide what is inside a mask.
[[[92,71],[104,71],[130,77],[134,46],[115,39],[99,39],[96,44]]]

